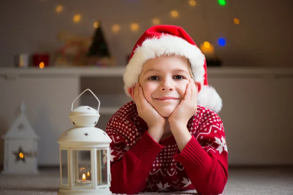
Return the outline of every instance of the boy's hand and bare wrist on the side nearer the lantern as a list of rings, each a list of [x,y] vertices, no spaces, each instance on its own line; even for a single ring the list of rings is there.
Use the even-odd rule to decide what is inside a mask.
[[[135,85],[134,101],[138,116],[146,121],[148,133],[158,142],[163,136],[166,119],[148,103],[140,83]]]

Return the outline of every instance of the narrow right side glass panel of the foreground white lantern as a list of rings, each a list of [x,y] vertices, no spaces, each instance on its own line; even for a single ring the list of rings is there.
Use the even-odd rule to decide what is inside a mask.
[[[107,184],[107,150],[97,150],[97,185]]]

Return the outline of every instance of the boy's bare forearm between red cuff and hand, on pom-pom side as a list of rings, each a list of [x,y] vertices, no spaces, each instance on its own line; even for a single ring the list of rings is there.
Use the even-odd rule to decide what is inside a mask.
[[[187,129],[187,125],[170,123],[170,129],[181,152],[192,137]]]

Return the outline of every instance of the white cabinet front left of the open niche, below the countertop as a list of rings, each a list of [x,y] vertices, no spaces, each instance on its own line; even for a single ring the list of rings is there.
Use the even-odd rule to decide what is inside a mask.
[[[58,138],[71,127],[71,102],[79,95],[78,77],[20,77],[6,80],[0,77],[0,135],[5,134],[14,121],[17,106],[24,100],[26,116],[40,136],[38,163],[58,164]],[[3,151],[3,139],[0,142]],[[3,162],[3,156],[0,156]]]

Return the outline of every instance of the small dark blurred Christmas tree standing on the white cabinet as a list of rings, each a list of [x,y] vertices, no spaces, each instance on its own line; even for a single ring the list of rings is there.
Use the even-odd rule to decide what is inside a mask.
[[[111,56],[104,38],[100,20],[95,23],[95,27],[96,32],[87,53],[88,64],[101,66],[111,65]]]

